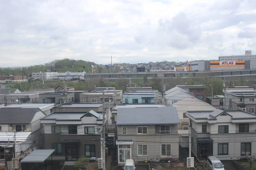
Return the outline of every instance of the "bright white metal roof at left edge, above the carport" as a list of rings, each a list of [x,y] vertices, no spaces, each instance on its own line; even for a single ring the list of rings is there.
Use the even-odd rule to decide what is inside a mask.
[[[24,142],[27,140],[29,135],[32,132],[0,132],[0,141],[1,142],[14,142],[16,138],[16,142]],[[14,136],[15,134],[15,136]],[[15,138],[14,138],[15,137]]]

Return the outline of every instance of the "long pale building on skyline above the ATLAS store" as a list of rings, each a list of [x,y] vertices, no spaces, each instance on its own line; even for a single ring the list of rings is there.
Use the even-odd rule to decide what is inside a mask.
[[[219,56],[220,61],[244,61],[252,60],[256,61],[256,55],[252,55],[252,51],[245,51],[245,55],[235,55],[235,56]]]

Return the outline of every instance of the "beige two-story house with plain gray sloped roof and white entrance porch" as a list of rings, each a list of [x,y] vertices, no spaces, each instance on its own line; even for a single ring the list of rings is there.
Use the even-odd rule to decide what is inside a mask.
[[[180,124],[175,107],[117,110],[118,164],[126,159],[160,161],[179,158]]]

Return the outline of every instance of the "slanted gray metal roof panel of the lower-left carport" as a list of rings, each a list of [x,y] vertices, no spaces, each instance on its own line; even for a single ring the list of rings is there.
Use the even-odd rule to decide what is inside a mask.
[[[21,163],[33,163],[33,162],[44,162],[52,153],[55,151],[55,149],[38,149],[33,150],[32,153],[29,153],[28,156],[26,156],[24,159],[22,159]]]

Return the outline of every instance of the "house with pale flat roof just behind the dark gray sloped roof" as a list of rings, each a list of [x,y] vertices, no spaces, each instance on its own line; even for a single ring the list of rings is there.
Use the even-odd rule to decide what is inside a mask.
[[[50,103],[23,103],[23,104],[14,104],[8,105],[4,108],[39,108],[44,114],[48,115],[53,112],[52,108],[54,104]]]

